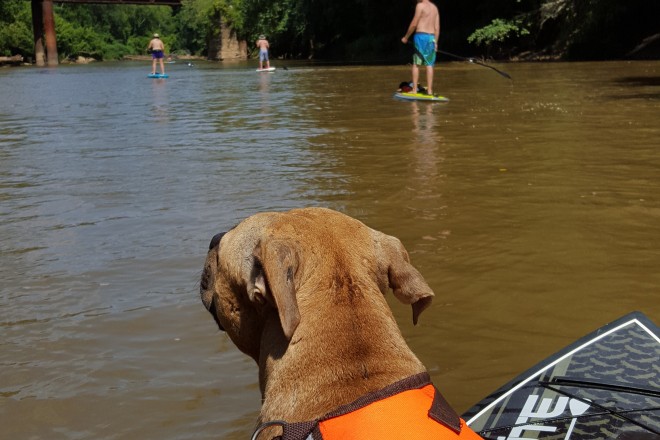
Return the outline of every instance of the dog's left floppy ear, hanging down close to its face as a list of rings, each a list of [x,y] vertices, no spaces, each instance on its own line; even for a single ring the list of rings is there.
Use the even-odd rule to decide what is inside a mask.
[[[248,295],[256,303],[275,303],[284,335],[291,340],[300,323],[294,280],[298,269],[296,253],[282,241],[267,240],[257,244],[252,255]]]

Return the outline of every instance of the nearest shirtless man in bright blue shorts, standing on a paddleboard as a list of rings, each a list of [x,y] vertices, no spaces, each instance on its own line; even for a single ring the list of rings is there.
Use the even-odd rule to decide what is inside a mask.
[[[427,91],[433,94],[433,65],[435,54],[438,50],[438,38],[440,37],[440,12],[429,0],[417,0],[415,16],[408,26],[408,32],[401,39],[403,44],[408,43],[408,38],[415,33],[413,42],[415,54],[413,55],[413,93],[417,93],[419,84],[419,66],[426,66]]]

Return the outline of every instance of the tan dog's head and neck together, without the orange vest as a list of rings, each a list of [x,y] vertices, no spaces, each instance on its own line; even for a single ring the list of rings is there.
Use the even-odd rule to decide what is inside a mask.
[[[414,323],[433,298],[397,238],[308,208],[257,214],[215,236],[200,293],[220,328],[259,365],[260,422],[303,425],[425,377],[385,301],[388,287],[412,305]],[[450,418],[460,431],[463,422]],[[274,431],[282,429],[259,438]],[[284,438],[325,438],[318,426],[315,432]]]

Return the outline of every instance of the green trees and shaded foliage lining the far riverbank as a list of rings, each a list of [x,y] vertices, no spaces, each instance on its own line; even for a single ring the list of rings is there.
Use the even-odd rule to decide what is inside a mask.
[[[436,2],[440,45],[463,53],[470,44],[507,56],[528,53],[566,58],[624,56],[657,33],[658,1],[461,0]],[[409,56],[400,38],[413,0],[183,0],[181,7],[55,4],[61,56],[101,59],[145,54],[154,32],[168,53],[204,55],[219,23],[232,27],[254,51],[259,34],[273,56],[352,60]],[[497,17],[497,18],[494,18]],[[475,30],[476,29],[476,30]],[[33,55],[31,2],[0,0],[0,55]],[[469,37],[465,38],[466,35]]]

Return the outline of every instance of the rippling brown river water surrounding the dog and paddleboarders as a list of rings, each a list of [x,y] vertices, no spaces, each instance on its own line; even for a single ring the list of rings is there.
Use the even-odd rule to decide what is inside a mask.
[[[660,62],[0,70],[0,437],[247,439],[257,369],[199,301],[213,234],[326,206],[399,237],[390,298],[459,411],[630,311],[660,323]]]

